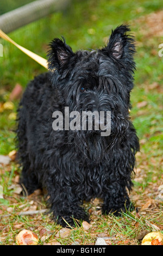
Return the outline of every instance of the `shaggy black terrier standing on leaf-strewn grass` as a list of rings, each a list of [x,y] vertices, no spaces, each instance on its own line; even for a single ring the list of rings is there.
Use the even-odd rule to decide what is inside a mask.
[[[73,218],[89,221],[81,205],[95,197],[103,199],[104,214],[133,209],[128,191],[139,139],[129,118],[135,41],[128,31],[117,27],[97,51],[73,53],[64,39],[54,39],[49,72],[28,84],[18,108],[20,182],[29,194],[46,188],[54,219],[63,226],[74,225]],[[65,109],[76,111],[74,129],[65,122]],[[93,115],[92,129],[82,129],[77,113],[94,111],[111,114],[107,136],[101,129],[109,127],[106,115],[96,123]]]

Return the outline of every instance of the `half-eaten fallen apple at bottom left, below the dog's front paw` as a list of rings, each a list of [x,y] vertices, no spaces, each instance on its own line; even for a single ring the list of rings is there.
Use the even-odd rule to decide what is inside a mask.
[[[23,229],[16,236],[17,245],[37,245],[39,242],[38,236],[30,230]]]

